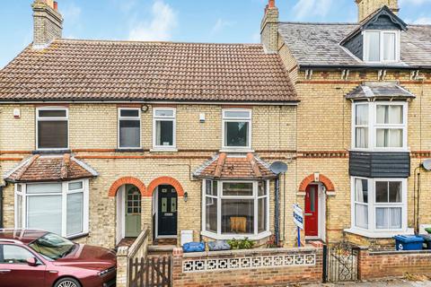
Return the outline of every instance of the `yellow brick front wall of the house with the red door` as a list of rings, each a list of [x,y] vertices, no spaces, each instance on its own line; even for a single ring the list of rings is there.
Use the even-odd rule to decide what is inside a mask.
[[[279,55],[301,102],[298,105],[298,160],[296,190],[303,178],[314,172],[330,178],[335,186],[335,196],[328,197],[327,235],[330,242],[342,239],[343,230],[350,227],[350,178],[348,158],[319,158],[328,152],[347,153],[351,147],[351,102],[345,95],[365,81],[378,81],[377,71],[350,71],[347,81],[341,80],[341,71],[313,71],[312,78],[306,79],[304,71],[297,68],[284,43],[279,45]],[[409,102],[408,146],[411,153],[411,176],[408,180],[408,222],[414,226],[414,187],[413,170],[419,163],[417,152],[424,151],[424,158],[431,158],[431,74],[421,73],[425,83],[410,80],[409,71],[387,71],[384,81],[398,81],[417,96]],[[303,152],[321,152],[320,155],[302,157]],[[421,172],[421,193],[419,218],[421,224],[431,224],[431,172]],[[303,196],[291,199],[303,205]],[[353,239],[348,235],[349,239]],[[374,242],[376,241],[376,242]],[[383,240],[384,241],[384,240]],[[359,239],[357,242],[363,242]],[[368,240],[370,244],[382,245],[382,240]]]

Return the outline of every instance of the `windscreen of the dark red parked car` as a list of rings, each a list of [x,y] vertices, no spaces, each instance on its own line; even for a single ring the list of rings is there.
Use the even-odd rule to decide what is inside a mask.
[[[74,242],[54,233],[47,233],[29,244],[30,248],[50,260],[65,257],[74,249],[74,246]]]

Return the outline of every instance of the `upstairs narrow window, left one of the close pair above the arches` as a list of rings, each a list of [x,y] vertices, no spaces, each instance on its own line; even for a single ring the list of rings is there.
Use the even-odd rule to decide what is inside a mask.
[[[141,148],[141,109],[119,108],[119,149]]]

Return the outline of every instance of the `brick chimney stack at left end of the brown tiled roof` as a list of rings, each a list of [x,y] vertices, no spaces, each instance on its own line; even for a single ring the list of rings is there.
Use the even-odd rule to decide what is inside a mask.
[[[53,0],[34,0],[33,48],[46,48],[54,39],[61,39],[63,17]]]

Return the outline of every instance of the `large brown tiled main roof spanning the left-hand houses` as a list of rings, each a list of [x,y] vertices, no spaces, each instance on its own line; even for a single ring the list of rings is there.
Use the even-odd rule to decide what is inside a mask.
[[[0,72],[0,100],[297,100],[261,45],[57,39]]]

